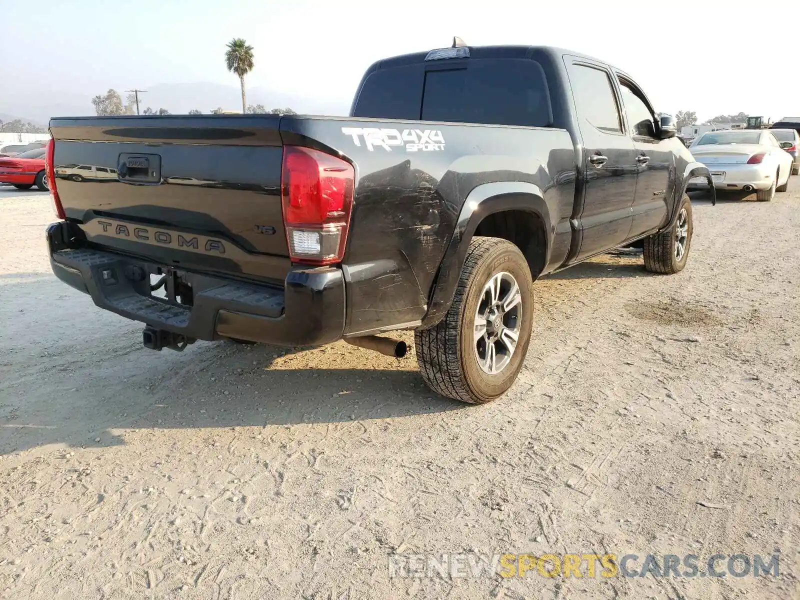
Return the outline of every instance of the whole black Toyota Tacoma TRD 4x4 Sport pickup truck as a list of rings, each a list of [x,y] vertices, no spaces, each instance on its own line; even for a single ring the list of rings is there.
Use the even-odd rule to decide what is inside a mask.
[[[710,181],[632,78],[565,50],[454,46],[376,62],[349,117],[54,118],[62,281],[145,346],[315,346],[415,330],[438,393],[517,377],[544,274],[641,241],[686,265]],[[713,186],[710,186],[713,190]]]

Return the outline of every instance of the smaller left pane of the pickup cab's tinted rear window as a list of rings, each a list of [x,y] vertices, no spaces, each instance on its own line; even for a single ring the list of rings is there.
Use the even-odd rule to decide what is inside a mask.
[[[358,94],[353,116],[417,121],[424,77],[420,65],[375,71],[366,78]]]

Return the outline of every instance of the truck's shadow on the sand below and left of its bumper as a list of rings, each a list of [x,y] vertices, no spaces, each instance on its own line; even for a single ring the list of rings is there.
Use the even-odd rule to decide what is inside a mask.
[[[68,382],[56,368],[39,374],[38,393],[6,390],[10,393],[0,401],[0,454],[54,443],[118,446],[129,443],[124,430],[358,429],[359,422],[467,407],[429,390],[413,355],[397,361],[370,357],[368,350],[350,351],[343,342],[332,346],[338,352],[331,346],[286,350],[220,342],[166,357],[166,351],[139,347],[95,355],[91,364],[67,376]],[[132,370],[141,374],[130,377]]]

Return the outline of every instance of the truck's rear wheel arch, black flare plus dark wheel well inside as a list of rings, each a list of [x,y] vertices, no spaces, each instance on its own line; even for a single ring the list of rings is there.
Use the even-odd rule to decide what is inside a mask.
[[[527,243],[526,232],[531,232]],[[554,226],[542,190],[530,182],[491,182],[467,195],[430,289],[422,327],[434,326],[450,309],[470,240],[488,235],[509,240],[525,255],[534,280],[550,258]]]

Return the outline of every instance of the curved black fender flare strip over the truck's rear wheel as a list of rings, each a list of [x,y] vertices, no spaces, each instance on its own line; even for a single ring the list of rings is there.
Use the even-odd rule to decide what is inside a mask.
[[[542,219],[546,228],[546,262],[549,262],[553,226],[539,186],[530,182],[491,182],[475,187],[462,205],[450,243],[439,263],[430,290],[428,310],[422,318],[422,329],[436,325],[450,310],[466,251],[480,222],[488,215],[504,210],[525,210]]]

